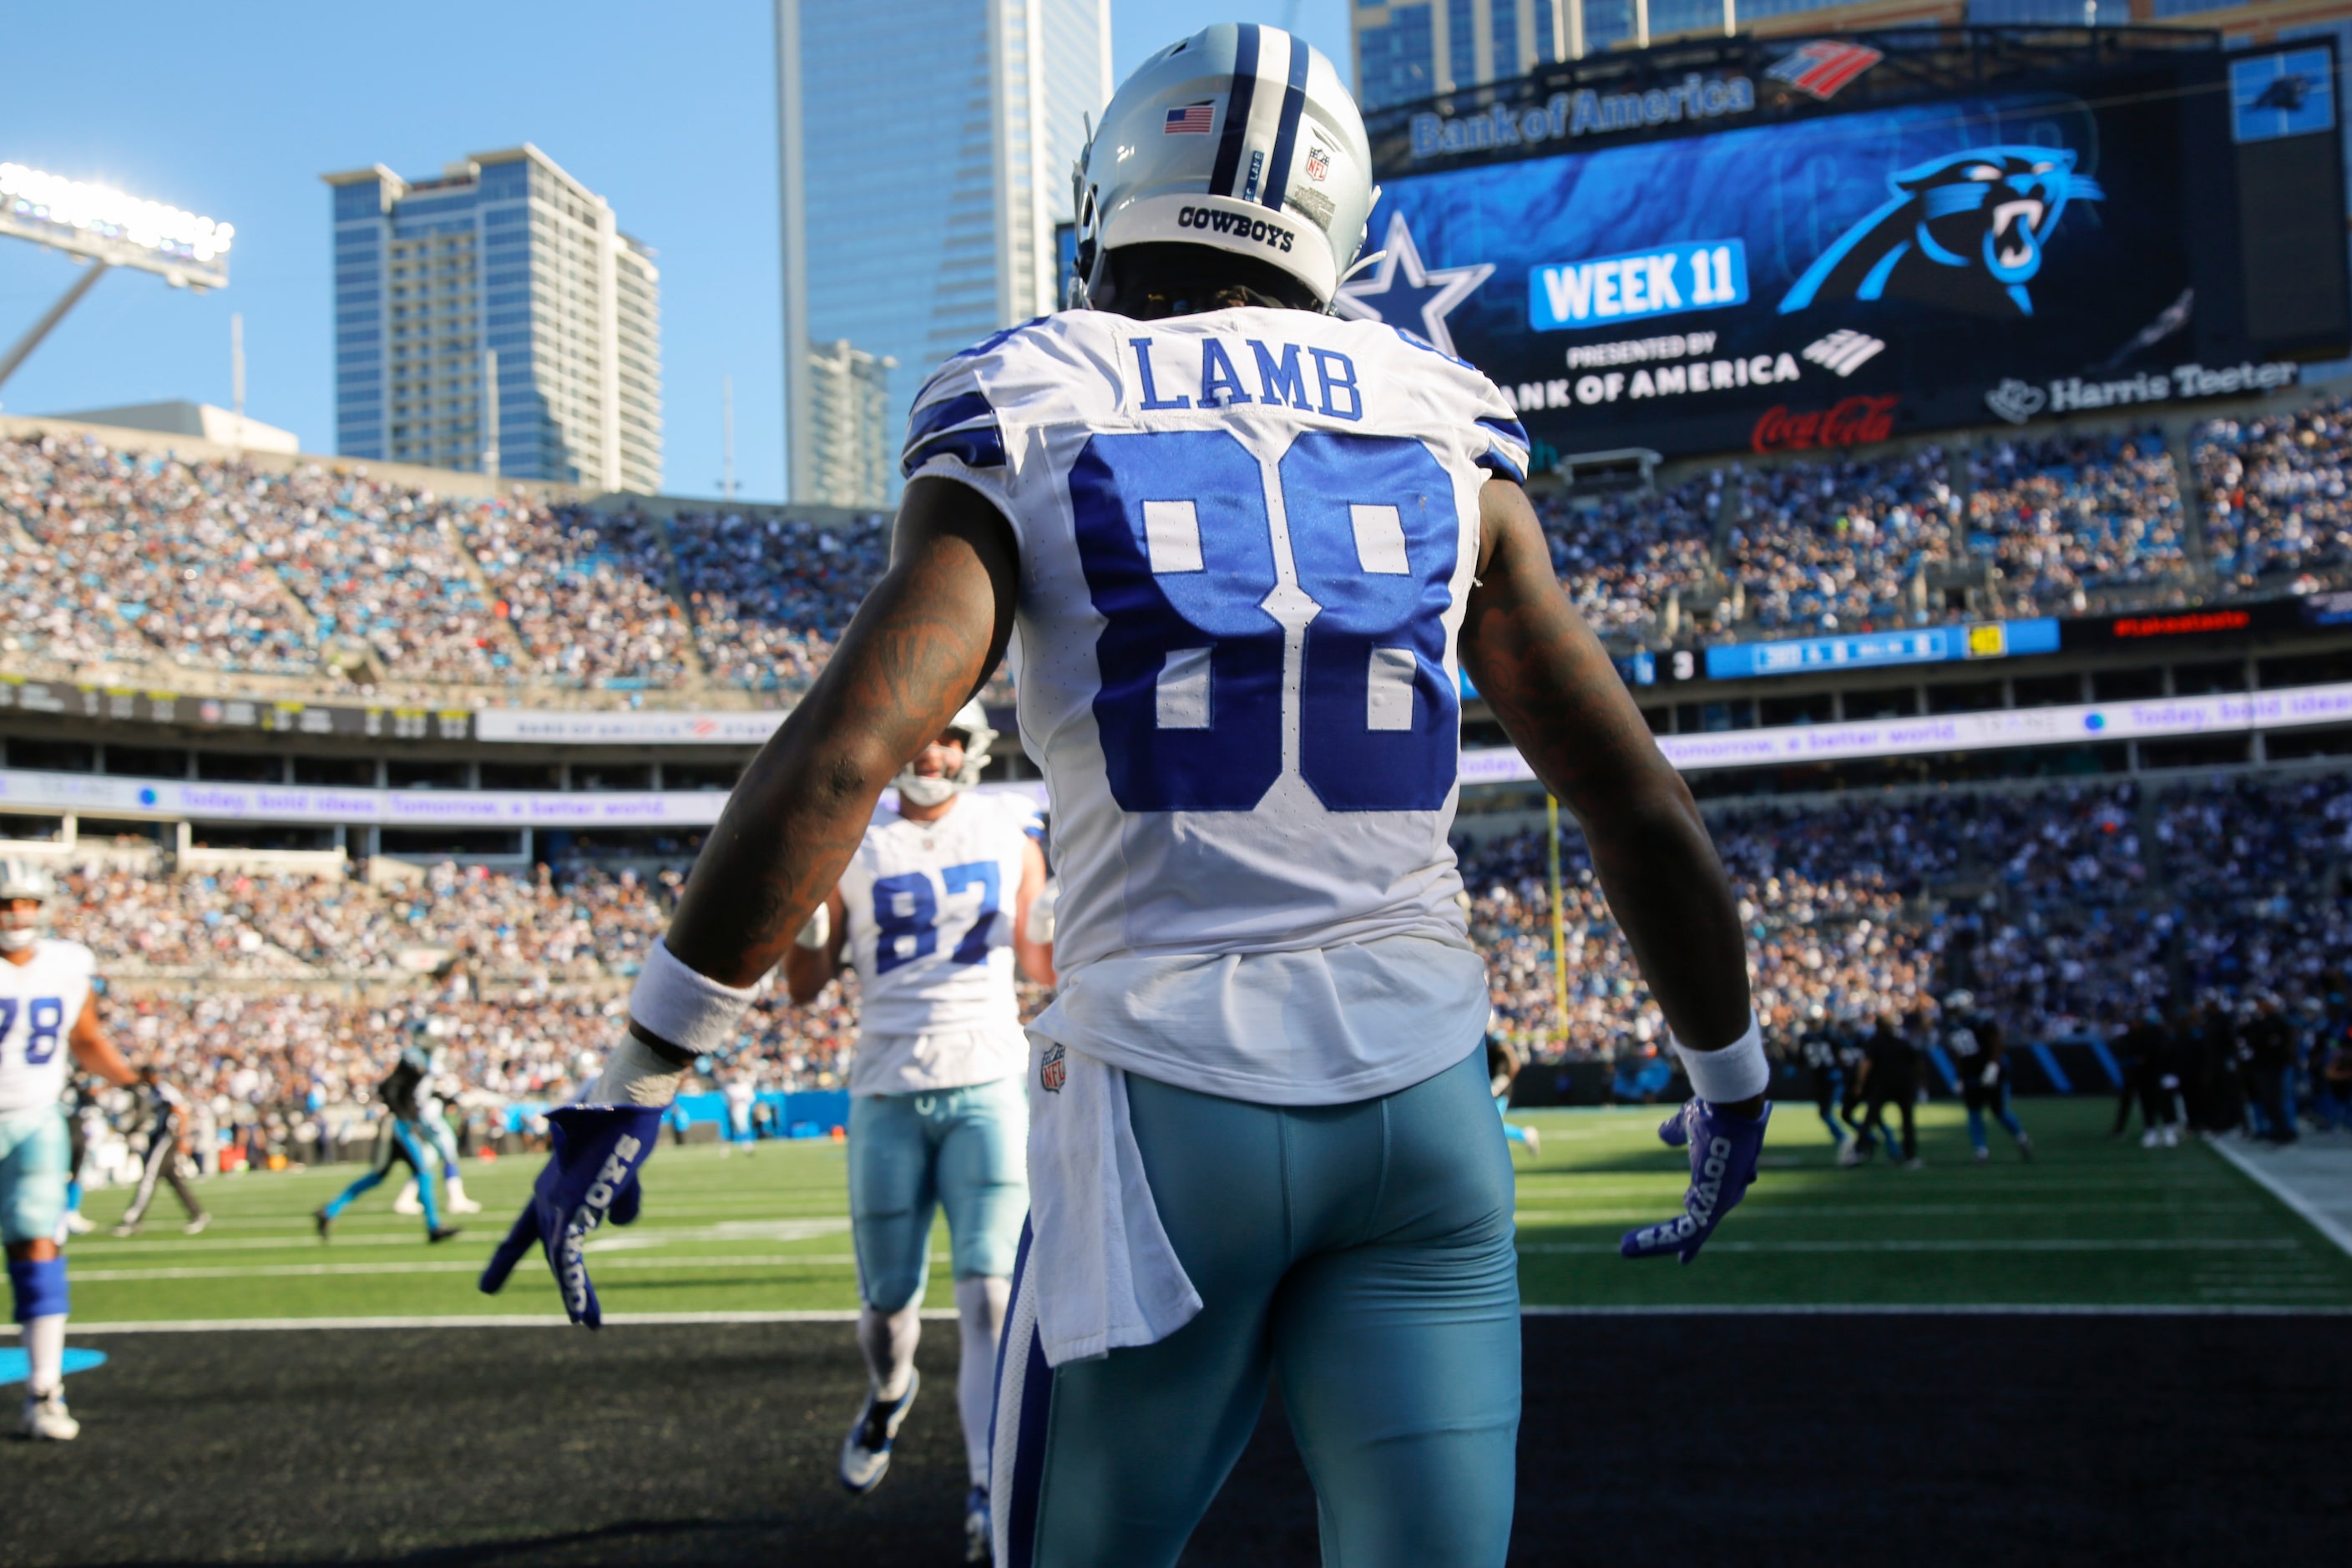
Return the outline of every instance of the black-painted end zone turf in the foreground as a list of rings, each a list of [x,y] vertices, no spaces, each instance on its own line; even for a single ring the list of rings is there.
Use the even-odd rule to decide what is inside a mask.
[[[847,1326],[80,1342],[0,1563],[960,1561],[948,1324],[863,1500]],[[1512,1561],[2343,1563],[2347,1389],[2345,1319],[1531,1319]],[[1185,1561],[1315,1563],[1277,1410]]]

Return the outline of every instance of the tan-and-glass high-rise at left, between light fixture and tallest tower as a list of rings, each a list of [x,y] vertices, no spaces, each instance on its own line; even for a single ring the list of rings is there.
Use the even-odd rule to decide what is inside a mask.
[[[325,179],[339,454],[661,489],[661,273],[604,197],[529,143]]]

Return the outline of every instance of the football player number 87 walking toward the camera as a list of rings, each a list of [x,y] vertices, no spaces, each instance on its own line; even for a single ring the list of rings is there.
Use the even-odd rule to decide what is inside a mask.
[[[1028,1213],[1028,1037],[1014,964],[1054,983],[1054,952],[1028,940],[1044,891],[1037,809],[971,795],[995,731],[969,703],[894,780],[898,811],[866,830],[833,896],[786,954],[807,1004],[849,961],[858,1044],[849,1065],[849,1215],[858,1253],[858,1347],[873,1373],[842,1441],[842,1486],[868,1493],[915,1403],[915,1338],[946,1208],[962,1326],[957,1406],[971,1462],[971,1547],[988,1542],[988,1413],[997,1335]]]

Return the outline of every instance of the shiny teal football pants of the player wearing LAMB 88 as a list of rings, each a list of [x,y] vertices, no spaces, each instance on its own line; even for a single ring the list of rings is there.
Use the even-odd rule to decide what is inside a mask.
[[[1519,1436],[1512,1175],[1484,1053],[1355,1105],[1244,1105],[1127,1077],[1190,1324],[1047,1368],[1007,1342],[1018,1420],[1000,1568],[1174,1563],[1249,1443],[1268,1371],[1315,1481],[1327,1568],[1498,1568]],[[1014,1281],[1014,1316],[1033,1281]],[[1021,1361],[1014,1361],[1021,1356]]]

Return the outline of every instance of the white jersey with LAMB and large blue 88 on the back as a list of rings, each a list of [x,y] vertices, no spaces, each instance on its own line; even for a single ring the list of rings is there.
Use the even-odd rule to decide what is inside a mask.
[[[1021,545],[1021,738],[1063,882],[1040,1032],[1287,1103],[1477,1044],[1454,639],[1479,487],[1524,468],[1494,383],[1378,322],[1068,310],[938,369],[906,473],[981,489]],[[1209,964],[1232,957],[1265,961]]]

